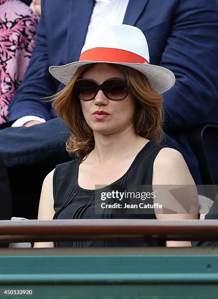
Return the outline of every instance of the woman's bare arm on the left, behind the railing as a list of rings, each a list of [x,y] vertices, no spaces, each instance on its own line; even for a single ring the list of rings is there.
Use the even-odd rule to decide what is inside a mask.
[[[48,173],[43,182],[38,220],[51,220],[54,216],[54,199],[53,199],[53,173],[54,170]],[[53,242],[35,242],[34,248],[53,247]]]

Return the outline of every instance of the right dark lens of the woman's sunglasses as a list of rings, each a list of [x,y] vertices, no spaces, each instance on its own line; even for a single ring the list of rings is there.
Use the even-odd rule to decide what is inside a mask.
[[[125,80],[111,79],[104,82],[102,90],[105,96],[111,100],[124,99],[128,94],[127,83]]]

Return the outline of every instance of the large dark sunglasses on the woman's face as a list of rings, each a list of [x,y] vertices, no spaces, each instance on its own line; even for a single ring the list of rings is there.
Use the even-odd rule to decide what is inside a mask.
[[[102,90],[105,97],[110,100],[118,101],[127,97],[129,88],[128,83],[122,79],[108,79],[101,85],[89,79],[76,80],[73,90],[75,95],[84,101],[93,100],[98,90]]]

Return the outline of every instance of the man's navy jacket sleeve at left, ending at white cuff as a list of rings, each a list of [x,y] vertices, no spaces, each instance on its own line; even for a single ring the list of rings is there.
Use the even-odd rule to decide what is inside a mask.
[[[25,115],[39,116],[45,120],[51,119],[51,105],[42,97],[55,92],[56,85],[48,72],[44,0],[42,0],[42,16],[37,28],[36,46],[23,82],[10,102],[9,121],[15,121]]]

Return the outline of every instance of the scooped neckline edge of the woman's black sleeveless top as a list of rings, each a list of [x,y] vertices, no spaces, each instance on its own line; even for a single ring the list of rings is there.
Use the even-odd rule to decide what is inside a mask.
[[[134,160],[132,161],[131,165],[129,166],[128,170],[119,178],[117,179],[115,182],[105,186],[105,187],[109,187],[111,185],[114,185],[116,183],[118,183],[121,179],[123,179],[128,173],[129,171],[132,169],[133,165],[135,164],[136,160],[138,159],[138,157],[140,156],[140,154],[147,148],[148,145],[150,145],[153,141],[149,140],[145,146],[140,149],[140,151],[138,152],[138,154],[135,156]],[[77,161],[77,166],[76,166],[76,173],[75,173],[75,187],[83,192],[99,192],[100,190],[103,190],[105,187],[99,188],[99,189],[84,189],[82,187],[79,186],[78,184],[78,173],[79,173],[79,164],[80,161],[82,160],[84,156],[80,157]]]

